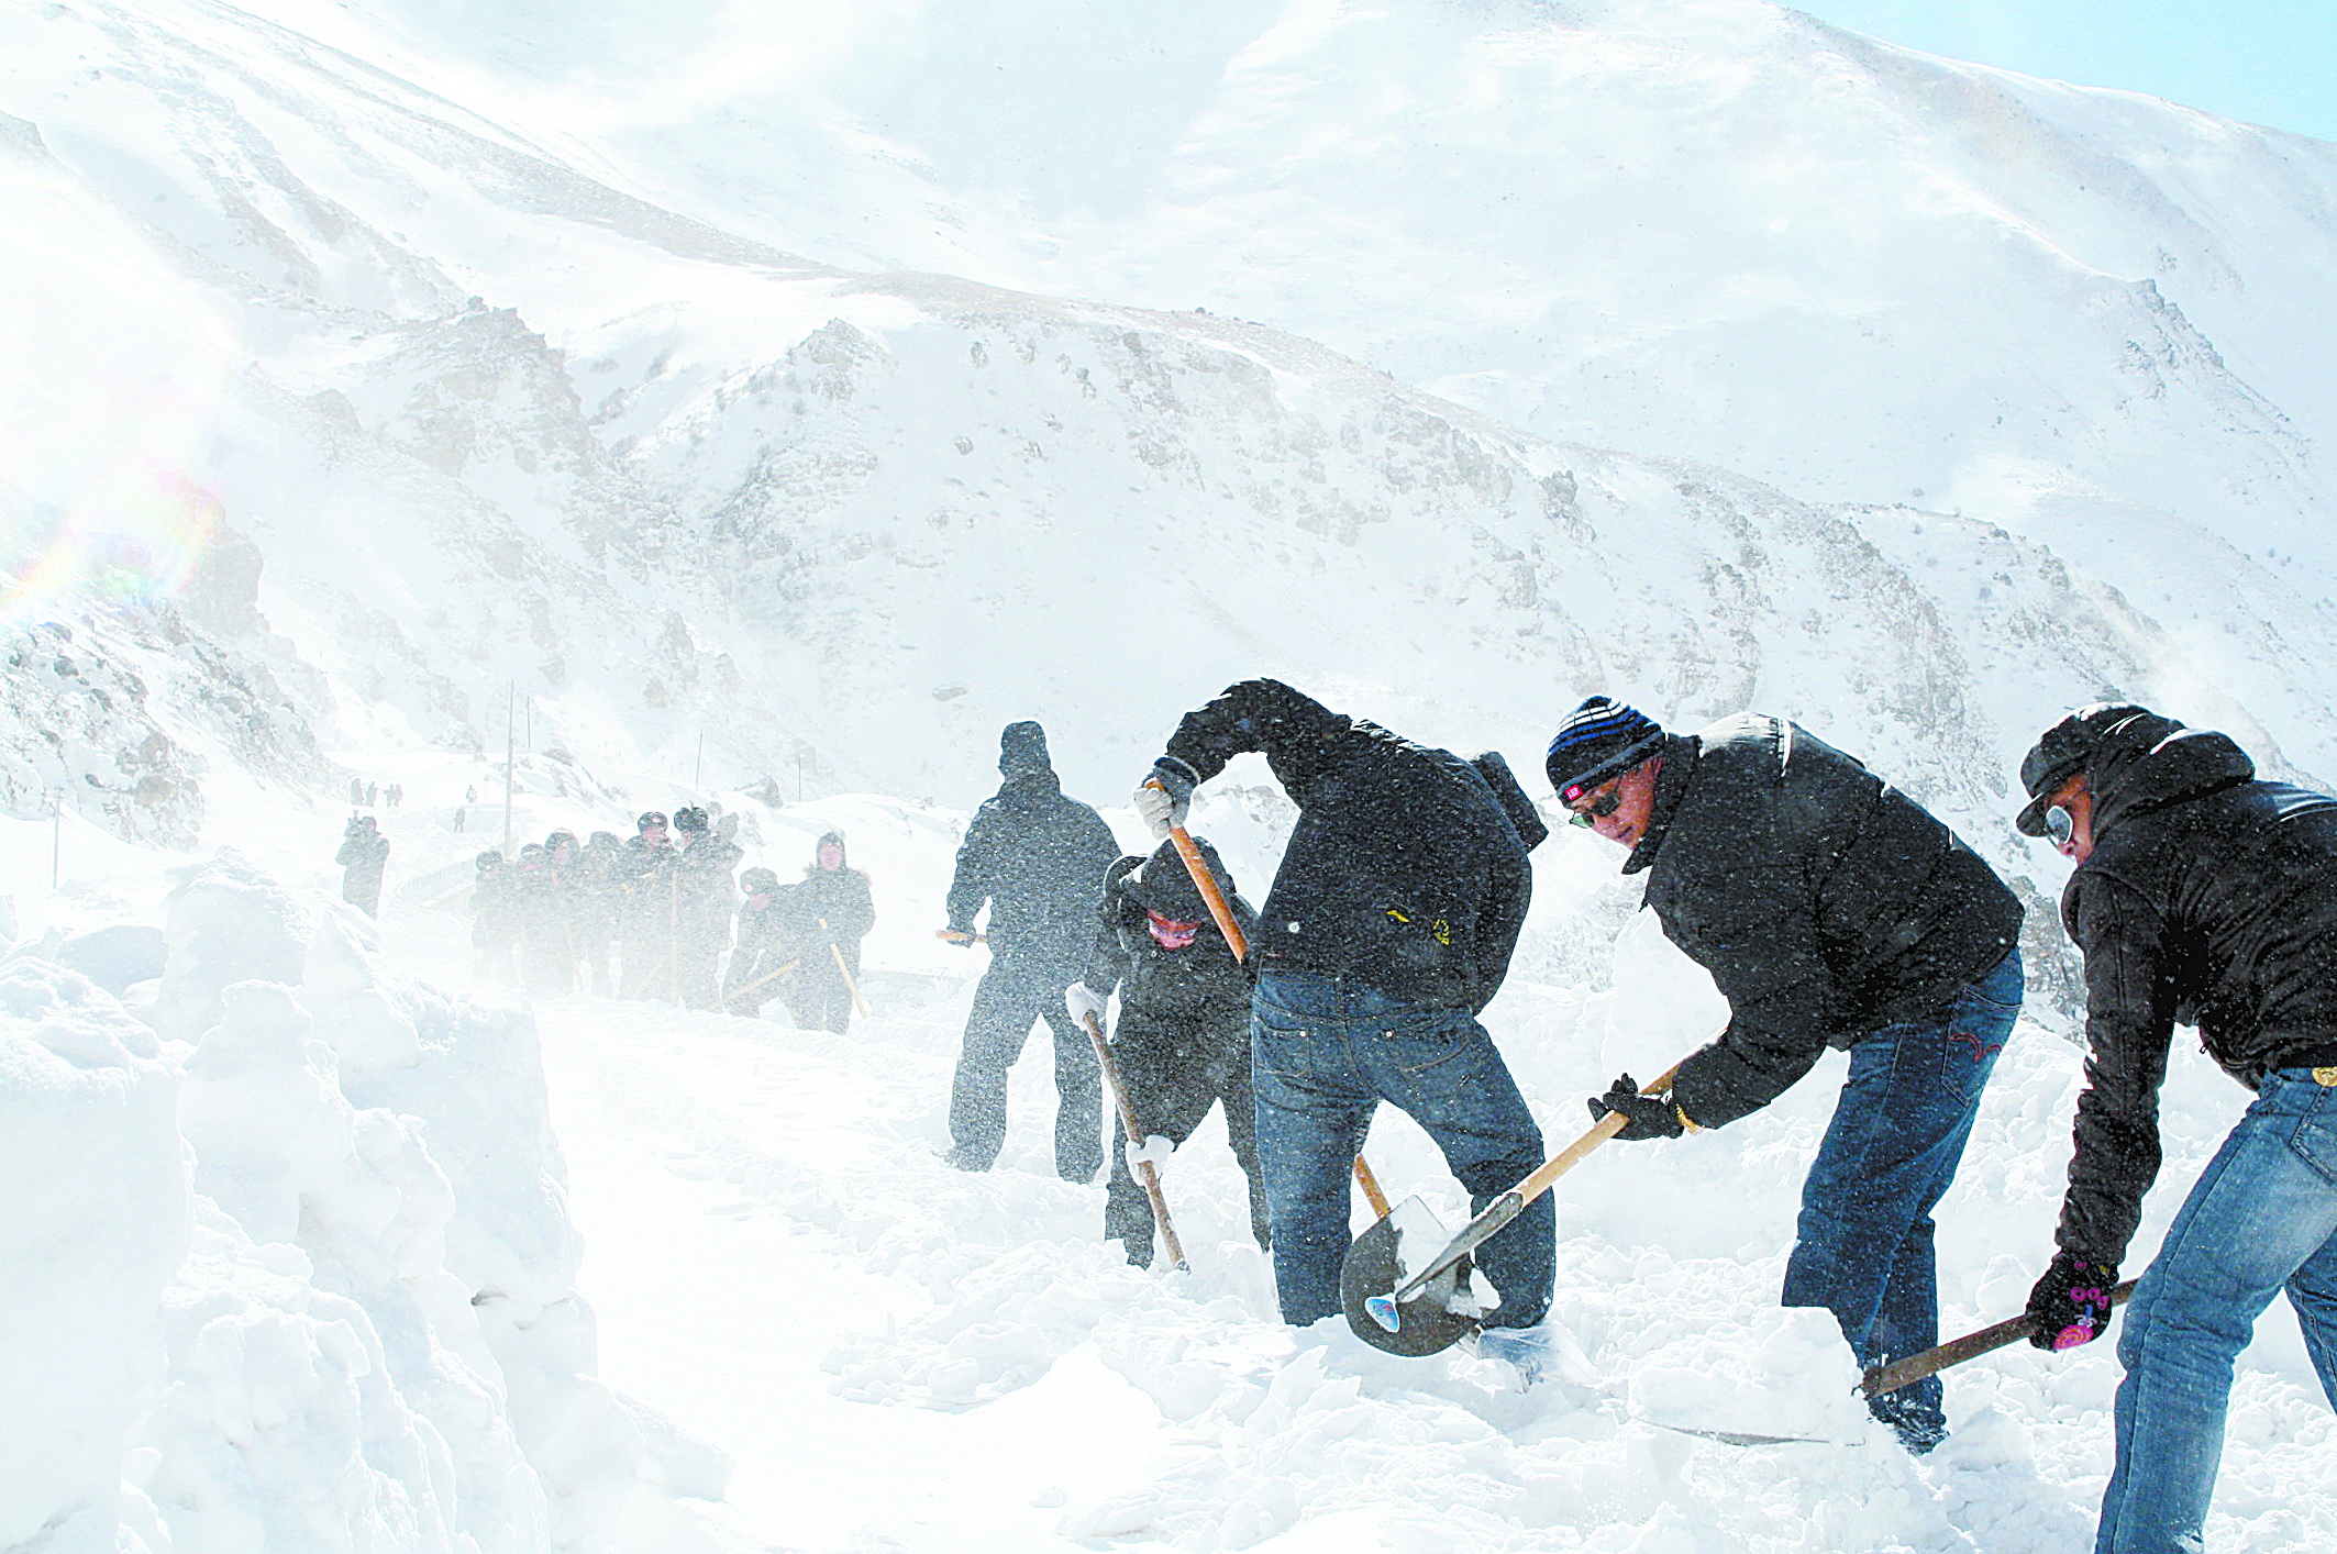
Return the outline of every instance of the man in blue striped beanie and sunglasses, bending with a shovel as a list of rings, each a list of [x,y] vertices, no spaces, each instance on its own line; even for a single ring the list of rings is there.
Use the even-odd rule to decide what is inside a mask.
[[[2022,907],[1914,799],[1778,717],[1666,734],[1591,696],[1549,743],[1575,825],[1627,846],[1648,907],[1729,1000],[1666,1096],[1629,1075],[1591,1101],[1617,1138],[1718,1129],[1781,1096],[1828,1047],[1851,1075],[1785,1264],[1783,1304],[1825,1306],[1860,1365],[1940,1341],[1933,1206],[2019,1014]],[[1870,1402],[1914,1451],[1947,1435],[1937,1379]]]

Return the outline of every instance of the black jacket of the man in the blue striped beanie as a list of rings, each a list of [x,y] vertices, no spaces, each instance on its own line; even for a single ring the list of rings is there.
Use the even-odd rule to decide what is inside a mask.
[[[1666,741],[1634,869],[1729,1000],[1671,1087],[1701,1126],[1769,1105],[1828,1045],[1935,1010],[2022,930],[2012,890],[1921,804],[1760,713]]]

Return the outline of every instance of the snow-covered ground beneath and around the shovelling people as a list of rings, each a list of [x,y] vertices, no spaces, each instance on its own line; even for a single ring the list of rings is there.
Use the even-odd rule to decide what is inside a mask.
[[[437,752],[404,764],[409,788],[425,792],[465,771]],[[360,1019],[372,1000],[348,1003],[346,988],[332,998],[334,977],[355,977],[360,963],[320,949],[278,967],[297,979],[294,991],[238,991],[201,1045],[166,1040],[145,1059],[136,1056],[136,1019],[108,1014],[103,993],[68,995],[89,1010],[79,1026],[112,1021],[105,1028],[133,1054],[110,1059],[145,1075],[147,1089],[126,1096],[180,1096],[178,1126],[201,1194],[180,1234],[194,1236],[196,1255],[168,1274],[173,1243],[147,1227],[143,1283],[100,1264],[115,1285],[145,1290],[143,1306],[65,1306],[63,1281],[84,1264],[63,1250],[0,1264],[0,1299],[96,1327],[108,1353],[143,1367],[82,1383],[77,1395],[91,1400],[96,1435],[126,1430],[124,1526],[150,1552],[367,1547],[367,1528],[372,1547],[549,1540],[626,1554],[2087,1547],[2117,1374],[2106,1346],[2061,1358],[2022,1346],[1965,1367],[1949,1386],[1951,1442],[1916,1463],[1867,1425],[1830,1318],[1776,1309],[1795,1187],[1839,1061],[1746,1124],[1662,1147],[1610,1145],[1561,1182],[1552,1320],[1563,1358],[1554,1379],[1517,1390],[1496,1360],[1461,1351],[1398,1360],[1339,1323],[1283,1327],[1215,1122],[1166,1171],[1192,1274],[1129,1269],[1117,1246],[1096,1239],[1101,1187],[1052,1173],[1045,1035],[1017,1070],[1000,1166],[984,1175],[946,1168],[937,1150],[949,1070],[979,974],[979,951],[930,937],[958,816],[874,797],[776,811],[738,795],[724,802],[767,837],[750,862],[781,869],[827,825],[851,830],[881,921],[867,963],[874,1019],[848,1035],[563,998],[535,1005],[533,1040],[509,1047],[509,1035],[493,1033],[521,1031],[509,1024],[516,1010],[509,995],[470,986],[463,918],[414,904],[423,890],[400,890],[432,879],[430,865],[460,846],[425,809],[386,816],[397,846],[393,904],[381,951],[362,965],[397,1007],[430,1005],[432,984],[456,991],[458,1003],[439,1007],[470,1021],[470,1038],[446,1049],[425,1042],[421,1056],[383,1047],[395,1024],[369,1026],[379,1007]],[[287,888],[332,881],[320,860],[334,827],[306,816],[259,820],[255,855]],[[552,820],[605,825],[615,816]],[[1243,832],[1232,802],[1204,804],[1201,830],[1213,820],[1236,874],[1262,879],[1255,855],[1271,851],[1271,832]],[[19,886],[26,939],[51,923],[159,921],[154,902],[168,881],[152,869],[117,867],[103,883],[68,869],[68,888],[49,897],[47,841],[35,827],[7,827],[5,872]],[[1613,867],[1589,846],[1584,837],[1547,844],[1531,937],[1547,944],[1582,909],[1559,881]],[[229,893],[243,911],[238,939],[297,949],[248,923],[306,897],[248,890],[241,881]],[[182,925],[229,918],[220,902],[189,916],[182,900],[178,911]],[[330,911],[315,935],[327,949],[348,944],[348,925]],[[173,953],[185,965],[173,963],[166,995],[187,988],[192,998],[217,981],[220,972],[194,970],[201,942],[173,930]],[[1708,981],[1652,923],[1622,932],[1610,974],[1610,984],[1570,986],[1521,970],[1489,1014],[1552,1147],[1584,1124],[1582,1094],[1617,1068],[1659,1068],[1715,1024]],[[23,958],[0,970],[9,1054],[30,1049],[33,1017],[9,988],[33,986],[56,986],[56,974]],[[285,1056],[297,1049],[283,1047],[287,1031],[301,1026],[294,1003],[327,1012],[313,1024],[334,1059],[315,1047],[306,1061]],[[157,1019],[171,1033],[166,1014],[168,1000]],[[178,1028],[192,1024],[201,1021]],[[51,1035],[33,1031],[33,1040],[54,1045],[54,1026],[49,1017]],[[460,1049],[484,1059],[449,1070]],[[542,1075],[530,1080],[538,1049]],[[500,1073],[493,1105],[449,1105],[486,1073]],[[2045,1257],[2075,1077],[2068,1042],[2038,1024],[2019,1028],[1942,1208],[1951,1332],[2017,1309]],[[514,1171],[509,1150],[526,1133],[512,1124],[526,1117],[533,1084],[549,1131],[519,1150]],[[259,1094],[278,1101],[257,1108]],[[154,1105],[145,1103],[147,1115]],[[2206,1059],[2178,1059],[2166,1182],[2138,1246],[2159,1234],[2239,1105],[2241,1094]],[[414,1115],[425,1122],[407,1122]],[[360,1150],[372,1164],[360,1164],[348,1140],[365,1140],[367,1126],[379,1133]],[[40,1138],[65,1154],[54,1133]],[[103,1145],[70,1147],[86,1157]],[[1458,1225],[1456,1187],[1402,1117],[1379,1119],[1369,1152],[1393,1192],[1416,1192]],[[145,1159],[150,1173],[171,1175],[168,1150],[150,1147]],[[491,1159],[502,1161],[500,1175],[481,1173]],[[451,1201],[414,1208],[432,1180],[442,1194],[451,1185]],[[556,1182],[549,1199],[540,1180]],[[287,1192],[304,1213],[269,1208],[290,1203]],[[150,1199],[154,1225],[185,1215],[168,1194]],[[386,1213],[395,1201],[409,1208]],[[498,1239],[465,1239],[465,1220],[500,1225]],[[444,1227],[442,1253],[432,1225]],[[582,1239],[580,1260],[573,1246],[561,1250],[566,1225]],[[376,1260],[388,1267],[367,1283]],[[479,1288],[488,1264],[507,1295],[577,1320],[552,1334],[540,1320],[498,1330],[498,1302],[446,1304]],[[365,1360],[362,1341],[348,1351],[348,1337],[330,1337],[341,1330],[374,1332],[383,1351]],[[243,1337],[222,1348],[222,1332]],[[280,1337],[259,1341],[264,1332]],[[554,1360],[530,1355],[526,1334],[552,1344]],[[395,1351],[414,1344],[407,1365],[418,1369],[402,1369]],[[96,1353],[86,1341],[63,1346],[82,1351]],[[0,1362],[23,1362],[21,1351],[7,1353]],[[56,1344],[47,1353],[47,1365],[61,1362]],[[423,1362],[430,1353],[437,1360]],[[486,1393],[505,1388],[514,1425],[526,1400],[559,1393],[568,1428],[535,1439],[521,1428],[502,1447],[477,1423],[470,1437],[456,1435],[477,1418],[460,1388],[446,1390],[463,1376]],[[337,1437],[323,1423],[334,1411],[320,1400],[365,1397],[367,1386],[379,1388],[367,1404],[374,1414],[404,1418],[393,1439],[416,1442],[421,1456],[407,1468],[383,1451],[379,1428]],[[1734,1447],[1683,1430],[1816,1439]],[[435,1435],[449,1442],[463,1493],[442,1493],[446,1468],[425,1468]],[[486,1482],[477,1463],[488,1451],[516,1454],[526,1468],[509,1463],[502,1482],[538,1486],[533,1496],[470,1493]],[[2337,1425],[2293,1318],[2274,1311],[2234,1390],[2215,1547],[2328,1547],[2337,1538],[2332,1451]],[[269,1472],[227,1472],[236,1463]],[[0,1486],[0,1510],[26,1493]],[[411,1521],[397,1521],[400,1505]],[[334,1535],[301,1542],[283,1524],[292,1507],[311,1531]]]

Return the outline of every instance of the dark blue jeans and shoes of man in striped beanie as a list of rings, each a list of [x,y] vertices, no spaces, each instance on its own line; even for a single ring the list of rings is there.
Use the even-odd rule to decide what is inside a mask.
[[[1783,1304],[1832,1311],[1867,1369],[1940,1341],[1930,1210],[1956,1180],[1979,1091],[2019,1012],[2012,951],[1937,1010],[1851,1047],[1851,1077],[1802,1182]],[[1928,1449],[1947,1435],[1942,1395],[1926,1376],[1870,1409]]]

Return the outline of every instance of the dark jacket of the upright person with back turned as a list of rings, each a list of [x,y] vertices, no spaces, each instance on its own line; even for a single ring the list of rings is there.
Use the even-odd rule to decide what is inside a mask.
[[[949,925],[972,932],[989,902],[993,956],[1077,970],[1096,935],[1103,872],[1117,858],[1103,816],[1063,797],[1052,771],[1019,771],[965,827],[949,883]]]

